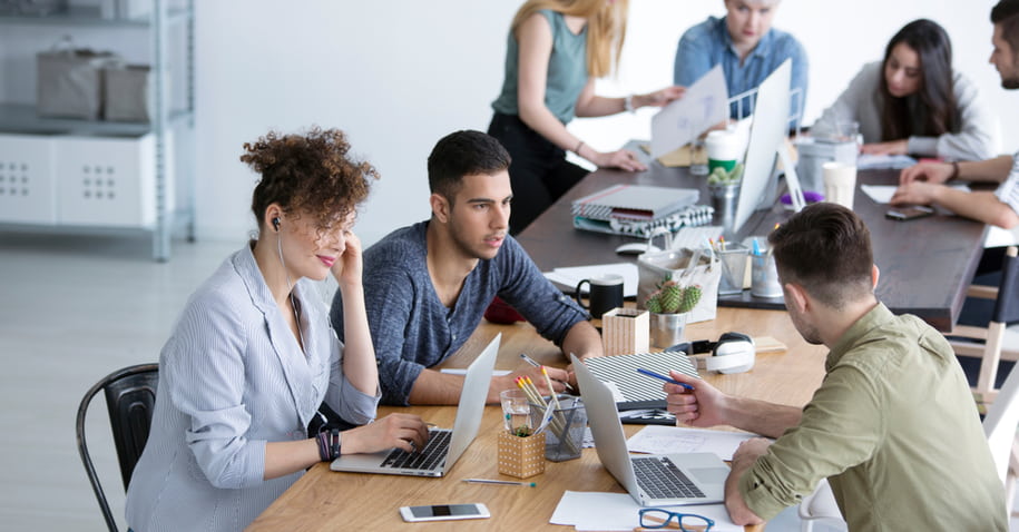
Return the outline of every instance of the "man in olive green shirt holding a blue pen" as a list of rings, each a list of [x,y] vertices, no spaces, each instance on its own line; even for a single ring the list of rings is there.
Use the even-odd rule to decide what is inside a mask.
[[[725,505],[756,524],[827,479],[850,530],[1006,531],[1005,489],[969,384],[944,337],[874,297],[870,233],[851,210],[814,204],[768,236],[800,334],[831,352],[811,402],[795,407],[666,384],[669,412],[753,439],[733,456]]]

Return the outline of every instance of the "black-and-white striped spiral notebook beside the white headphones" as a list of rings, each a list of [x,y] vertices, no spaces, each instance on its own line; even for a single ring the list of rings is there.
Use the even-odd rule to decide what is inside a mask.
[[[682,351],[599,356],[586,359],[585,364],[598,381],[616,388],[616,408],[620,411],[665,407],[663,383],[637,373],[638,367],[663,375],[668,375],[669,370],[675,370],[700,378],[693,361]]]

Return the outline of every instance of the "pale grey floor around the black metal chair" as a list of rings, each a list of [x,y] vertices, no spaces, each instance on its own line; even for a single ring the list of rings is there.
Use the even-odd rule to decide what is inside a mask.
[[[156,362],[187,297],[243,242],[175,243],[160,264],[145,237],[0,233],[0,530],[106,530],[75,444],[78,403],[114,370]],[[334,289],[323,283],[323,297]],[[88,439],[126,530],[102,398]],[[767,530],[798,526],[790,509]]]

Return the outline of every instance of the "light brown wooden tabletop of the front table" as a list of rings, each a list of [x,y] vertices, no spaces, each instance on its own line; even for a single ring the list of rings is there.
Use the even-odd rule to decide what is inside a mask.
[[[737,326],[738,324],[738,326]],[[719,308],[712,322],[690,324],[689,337],[717,338],[726,331],[737,328],[754,336],[772,336],[784,343],[788,351],[757,355],[749,373],[703,376],[725,392],[752,396],[790,405],[802,406],[810,401],[821,384],[826,349],[806,344],[793,328],[788,316],[781,311],[748,308]],[[467,367],[488,342],[502,333],[497,370],[518,370],[525,366],[518,356],[528,353],[547,365],[565,366],[559,349],[541,338],[528,324],[482,325],[463,348],[443,367]],[[657,386],[651,383],[650,385]],[[455,416],[452,406],[381,407],[380,417],[392,412],[421,415],[439,426],[451,427]],[[443,479],[422,479],[380,474],[336,473],[329,464],[320,463],[291,486],[262,515],[248,531],[337,531],[337,530],[561,530],[571,526],[549,524],[549,519],[566,490],[624,493],[623,487],[598,461],[594,449],[585,449],[582,456],[568,462],[547,462],[543,474],[528,481],[537,487],[469,484],[463,479],[506,479],[496,462],[497,434],[502,428],[501,408],[487,406],[478,437],[468,447],[452,471]],[[627,435],[640,425],[624,425]],[[491,519],[435,523],[404,523],[398,509],[406,505],[451,504],[481,502],[491,511]],[[758,530],[748,528],[747,530]]]

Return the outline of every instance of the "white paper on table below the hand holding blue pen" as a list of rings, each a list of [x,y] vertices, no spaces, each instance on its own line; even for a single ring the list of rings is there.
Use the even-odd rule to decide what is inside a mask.
[[[722,460],[733,460],[741,443],[757,437],[745,432],[711,431],[684,426],[647,425],[626,441],[634,453],[715,453]]]

